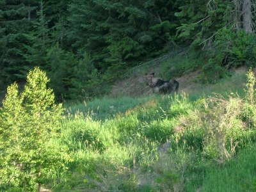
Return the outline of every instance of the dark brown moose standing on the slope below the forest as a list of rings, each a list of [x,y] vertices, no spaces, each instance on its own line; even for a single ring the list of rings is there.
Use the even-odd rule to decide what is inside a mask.
[[[150,75],[145,75],[147,77],[147,85],[152,89],[154,93],[177,93],[179,90],[179,82],[175,79],[170,81],[163,81],[163,79],[159,79],[154,77],[155,73],[153,72]]]

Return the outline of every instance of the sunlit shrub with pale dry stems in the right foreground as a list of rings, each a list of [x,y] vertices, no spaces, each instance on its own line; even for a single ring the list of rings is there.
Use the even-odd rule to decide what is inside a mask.
[[[255,77],[252,70],[247,74],[245,98],[230,93],[197,100],[194,104],[186,97],[176,99],[170,106],[175,116],[173,140],[176,148],[199,149],[203,154],[223,162],[255,140]],[[175,149],[175,145],[173,145]]]

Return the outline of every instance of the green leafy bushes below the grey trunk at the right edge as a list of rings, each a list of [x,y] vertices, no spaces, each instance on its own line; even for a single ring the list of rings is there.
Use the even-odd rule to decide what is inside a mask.
[[[203,83],[214,83],[217,79],[230,76],[230,68],[255,65],[255,35],[232,28],[216,31],[214,44],[207,54],[210,58],[202,65],[198,79]],[[212,73],[214,71],[214,73]]]

